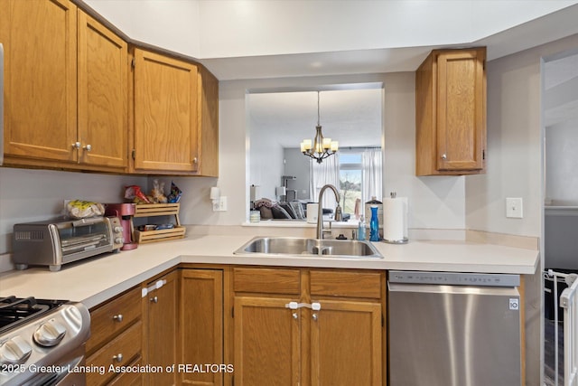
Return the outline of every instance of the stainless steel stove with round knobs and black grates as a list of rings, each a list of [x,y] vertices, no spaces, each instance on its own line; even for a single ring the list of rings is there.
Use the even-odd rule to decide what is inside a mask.
[[[0,297],[0,384],[83,385],[90,314],[81,303]]]

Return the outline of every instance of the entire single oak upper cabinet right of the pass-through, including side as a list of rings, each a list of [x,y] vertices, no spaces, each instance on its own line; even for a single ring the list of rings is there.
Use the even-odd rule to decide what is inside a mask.
[[[486,49],[435,50],[415,72],[415,174],[485,168]]]

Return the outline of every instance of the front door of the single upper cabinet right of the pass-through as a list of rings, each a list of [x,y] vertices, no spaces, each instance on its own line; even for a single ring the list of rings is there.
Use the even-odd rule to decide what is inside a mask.
[[[485,138],[484,50],[437,57],[437,168],[483,168]]]

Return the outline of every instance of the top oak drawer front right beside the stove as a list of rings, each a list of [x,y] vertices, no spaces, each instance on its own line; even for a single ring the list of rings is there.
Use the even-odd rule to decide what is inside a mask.
[[[128,325],[140,319],[141,288],[135,287],[90,313],[90,339],[87,353],[97,349]]]

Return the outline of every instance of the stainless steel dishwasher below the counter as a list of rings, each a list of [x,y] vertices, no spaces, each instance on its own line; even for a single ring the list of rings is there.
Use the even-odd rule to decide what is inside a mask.
[[[519,386],[518,275],[389,271],[390,386]]]

